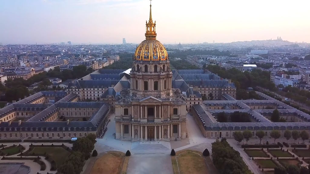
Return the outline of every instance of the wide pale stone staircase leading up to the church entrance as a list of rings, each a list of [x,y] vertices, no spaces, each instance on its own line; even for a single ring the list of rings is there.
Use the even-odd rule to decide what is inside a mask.
[[[171,146],[167,141],[135,141],[130,151],[135,154],[170,153]]]

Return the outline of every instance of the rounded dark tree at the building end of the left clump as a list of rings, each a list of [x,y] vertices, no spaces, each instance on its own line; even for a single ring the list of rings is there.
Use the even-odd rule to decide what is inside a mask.
[[[78,138],[72,146],[73,151],[80,151],[83,153],[85,159],[90,157],[91,151],[94,149],[94,143],[88,137]]]

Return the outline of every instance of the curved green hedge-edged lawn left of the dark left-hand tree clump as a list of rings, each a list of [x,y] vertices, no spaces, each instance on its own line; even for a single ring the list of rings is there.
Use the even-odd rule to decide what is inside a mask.
[[[60,167],[70,155],[70,152],[62,147],[34,147],[28,154],[44,154],[45,152],[56,162],[57,167]]]

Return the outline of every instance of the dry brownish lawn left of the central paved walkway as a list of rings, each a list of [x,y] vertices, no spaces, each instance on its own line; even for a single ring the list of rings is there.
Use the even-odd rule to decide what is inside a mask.
[[[117,152],[109,152],[98,158],[91,169],[91,174],[119,174],[122,170],[124,155]],[[126,173],[126,171],[122,171]]]

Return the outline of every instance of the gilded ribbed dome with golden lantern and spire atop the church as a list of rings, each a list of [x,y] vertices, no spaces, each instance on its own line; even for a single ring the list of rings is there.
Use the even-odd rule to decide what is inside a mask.
[[[150,0],[151,1],[151,0]],[[152,5],[150,4],[150,17],[146,21],[145,40],[135,50],[134,59],[144,61],[168,60],[166,48],[156,40],[156,21],[152,20]]]

